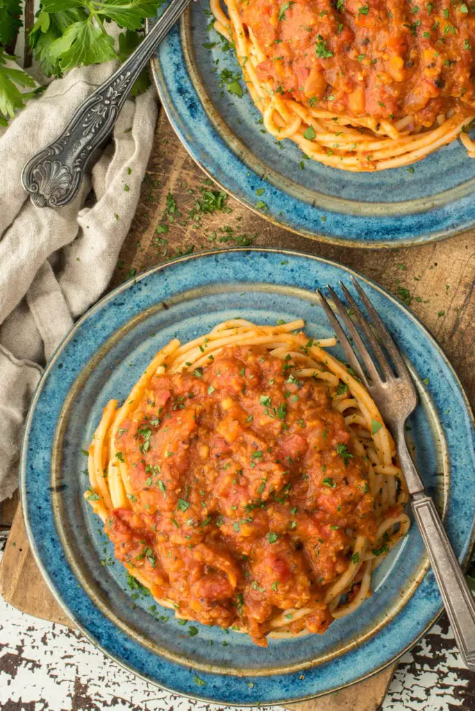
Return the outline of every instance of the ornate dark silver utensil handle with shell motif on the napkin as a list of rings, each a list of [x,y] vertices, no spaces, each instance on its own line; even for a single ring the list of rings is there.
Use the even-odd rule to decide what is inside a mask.
[[[28,161],[21,182],[34,205],[60,208],[73,200],[95,149],[110,136],[135,80],[190,1],[171,0],[127,61],[82,102],[63,133]]]

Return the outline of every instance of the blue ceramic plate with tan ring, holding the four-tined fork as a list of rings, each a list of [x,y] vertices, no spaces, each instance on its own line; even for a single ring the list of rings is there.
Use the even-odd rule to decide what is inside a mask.
[[[241,634],[196,624],[127,587],[122,565],[82,493],[87,448],[110,397],[126,397],[152,356],[237,316],[306,321],[329,336],[315,289],[350,269],[274,250],[184,257],[146,272],[78,321],[48,364],[26,422],[21,493],[36,560],[58,602],[103,651],[135,673],[187,696],[223,704],[289,702],[328,693],[390,664],[432,624],[441,599],[413,526],[378,568],[373,596],[323,636],[254,646]],[[358,276],[358,275],[357,275]],[[445,515],[460,560],[475,515],[474,429],[457,376],[425,328],[392,296],[358,276],[417,373],[421,404],[408,433],[417,464]],[[336,355],[342,353],[335,349]],[[168,619],[166,619],[168,618]]]

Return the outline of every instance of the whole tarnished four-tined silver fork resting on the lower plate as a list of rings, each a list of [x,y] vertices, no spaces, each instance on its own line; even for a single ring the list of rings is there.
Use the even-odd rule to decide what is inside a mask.
[[[345,331],[341,327],[338,319],[331,310],[320,290],[317,289],[324,307],[326,316],[333,326],[336,336],[339,339],[343,351],[346,353],[351,368],[355,371],[365,387],[370,392],[380,410],[381,415],[395,438],[397,454],[399,455],[402,471],[405,475],[407,488],[412,497],[411,504],[414,511],[417,525],[419,526],[422,538],[425,542],[427,554],[432,565],[432,570],[437,579],[445,609],[449,615],[449,620],[454,630],[454,635],[459,646],[461,657],[469,669],[475,670],[475,601],[472,596],[464,573],[461,570],[452,546],[450,545],[447,533],[445,533],[442,521],[439,518],[437,509],[432,498],[425,493],[424,484],[420,479],[412,457],[407,449],[405,439],[405,422],[417,405],[417,392],[407,366],[397,349],[395,342],[388,329],[383,324],[373,304],[368,296],[361,289],[356,279],[353,278],[353,285],[368,312],[372,326],[363,316],[361,309],[356,304],[345,285],[340,282],[340,287],[345,294],[348,305],[351,307],[351,317],[346,306],[338,299],[331,287],[329,292],[335,305],[336,313],[340,316],[348,332],[351,334],[356,348],[358,348],[361,361],[365,365],[369,378],[361,367],[353,346],[348,340]],[[361,329],[366,341],[368,341],[373,356],[366,348],[360,332]],[[383,348],[389,353],[393,360],[395,371],[391,368]],[[382,375],[381,375],[381,374]]]

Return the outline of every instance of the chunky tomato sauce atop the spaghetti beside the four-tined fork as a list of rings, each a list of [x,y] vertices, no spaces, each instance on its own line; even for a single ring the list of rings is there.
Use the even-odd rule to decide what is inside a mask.
[[[347,530],[374,540],[376,525],[365,462],[321,381],[229,346],[194,373],[154,377],[117,449],[134,493],[105,530],[155,597],[264,645],[289,608],[311,608],[292,631],[326,630]]]

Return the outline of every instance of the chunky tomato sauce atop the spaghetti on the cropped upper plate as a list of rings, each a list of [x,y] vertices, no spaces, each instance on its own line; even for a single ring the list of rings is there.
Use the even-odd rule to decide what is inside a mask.
[[[274,92],[349,117],[431,127],[475,108],[475,6],[433,0],[241,0]]]

